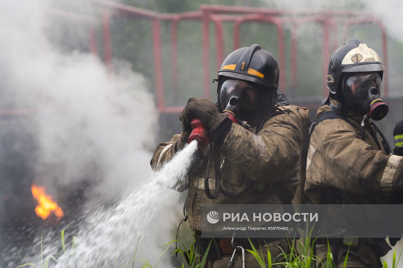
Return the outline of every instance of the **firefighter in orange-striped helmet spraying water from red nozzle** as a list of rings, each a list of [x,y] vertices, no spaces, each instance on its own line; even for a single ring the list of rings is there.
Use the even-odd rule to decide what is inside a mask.
[[[211,143],[201,148],[206,157],[190,178],[185,201],[200,256],[210,243],[210,239],[199,237],[202,204],[291,204],[299,186],[301,117],[278,91],[278,78],[276,59],[260,45],[235,50],[218,71],[218,103],[189,99],[179,116],[182,133],[158,144],[155,150],[151,160],[154,170],[185,146],[193,118],[200,118],[209,132]],[[234,97],[237,103],[230,101]],[[228,162],[220,175],[224,157]],[[270,247],[272,256],[282,253],[281,249],[287,252],[285,239],[252,241],[257,248],[264,242],[278,245]],[[251,248],[247,239],[236,239],[238,245]],[[266,247],[264,250],[267,252]],[[231,239],[215,238],[207,254],[207,267],[227,267],[233,252]],[[242,267],[241,255],[236,254],[233,267]],[[245,251],[244,256],[247,267],[260,267],[250,253]]]

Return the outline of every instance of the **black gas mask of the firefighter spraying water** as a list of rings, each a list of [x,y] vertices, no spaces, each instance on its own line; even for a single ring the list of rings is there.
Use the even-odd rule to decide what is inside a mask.
[[[258,107],[258,90],[243,80],[225,80],[220,89],[221,108],[245,120]]]

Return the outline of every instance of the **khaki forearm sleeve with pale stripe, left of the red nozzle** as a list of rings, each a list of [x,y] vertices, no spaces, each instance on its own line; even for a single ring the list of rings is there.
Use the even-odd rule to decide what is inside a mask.
[[[183,142],[181,142],[181,135],[179,134],[175,134],[168,142],[158,144],[150,161],[152,169],[156,171],[162,163],[169,161],[175,155],[176,151],[180,150],[182,147]]]

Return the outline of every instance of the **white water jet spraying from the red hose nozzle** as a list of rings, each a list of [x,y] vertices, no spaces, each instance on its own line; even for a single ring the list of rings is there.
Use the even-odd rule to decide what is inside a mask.
[[[138,188],[131,190],[116,207],[89,212],[87,227],[78,233],[77,249],[64,253],[57,267],[63,268],[67,264],[80,266],[83,260],[89,266],[98,263],[101,267],[117,260],[121,266],[133,260],[137,239],[140,239],[140,249],[136,260],[144,258],[143,254],[147,253],[145,249],[150,250],[150,240],[153,237],[165,237],[172,241],[172,234],[166,233],[163,228],[166,226],[162,223],[175,219],[174,213],[164,212],[172,209],[172,200],[177,193],[167,192],[166,187],[175,189],[186,183],[196,149],[196,141],[185,146],[160,170],[145,177]],[[160,249],[161,252],[162,250]],[[154,264],[159,253],[148,252],[151,255],[150,263]],[[138,263],[137,261],[136,264]],[[169,264],[162,264],[169,267]]]

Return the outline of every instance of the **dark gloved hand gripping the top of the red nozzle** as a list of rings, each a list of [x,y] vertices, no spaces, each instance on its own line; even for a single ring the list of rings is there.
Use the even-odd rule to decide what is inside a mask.
[[[217,106],[210,100],[204,98],[191,98],[187,102],[181,115],[179,115],[179,120],[182,121],[183,132],[187,132],[190,135],[190,132],[192,131],[190,122],[193,118],[200,118],[211,134],[216,131],[218,126],[220,126],[227,117],[228,115],[220,113]],[[187,135],[187,137],[189,137],[189,135]],[[181,135],[181,138],[182,136],[183,135]]]

